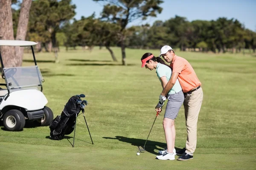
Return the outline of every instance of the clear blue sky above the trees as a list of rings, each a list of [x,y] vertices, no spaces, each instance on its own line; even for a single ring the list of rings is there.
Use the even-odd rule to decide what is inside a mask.
[[[160,6],[163,8],[157,17],[149,17],[142,21],[137,19],[130,26],[139,26],[148,23],[152,25],[156,20],[166,21],[175,15],[186,17],[187,20],[216,20],[218,17],[234,18],[244,24],[245,28],[256,31],[256,0],[163,0]],[[95,12],[100,17],[103,9],[102,3],[93,0],[72,0],[76,5],[77,20],[81,16],[88,17]]]

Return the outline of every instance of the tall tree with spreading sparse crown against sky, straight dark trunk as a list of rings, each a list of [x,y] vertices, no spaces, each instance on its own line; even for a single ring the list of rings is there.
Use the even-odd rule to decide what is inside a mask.
[[[122,50],[122,65],[125,62],[125,28],[128,23],[138,18],[146,19],[146,17],[156,17],[157,13],[161,13],[162,8],[159,6],[162,0],[94,0],[102,1],[105,6],[102,11],[102,19],[108,20],[120,26],[119,36]]]

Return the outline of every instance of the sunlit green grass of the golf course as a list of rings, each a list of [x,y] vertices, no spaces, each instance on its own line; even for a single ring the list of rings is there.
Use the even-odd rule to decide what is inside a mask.
[[[155,156],[166,146],[161,114],[143,146],[155,118],[154,107],[161,92],[155,71],[140,68],[145,52],[126,49],[128,66],[121,65],[121,51],[113,48],[119,62],[112,62],[106,49],[92,52],[70,50],[38,53],[45,79],[44,94],[54,116],[67,100],[85,94],[89,105],[85,116],[94,145],[79,116],[76,141],[73,133],[61,141],[49,138],[49,127],[26,124],[23,131],[0,130],[0,169],[255,169],[256,167],[256,57],[242,54],[179,52],[195,69],[202,82],[204,100],[198,119],[198,144],[191,161],[160,161]],[[25,54],[23,65],[33,65]],[[184,109],[175,120],[178,148],[186,142]]]

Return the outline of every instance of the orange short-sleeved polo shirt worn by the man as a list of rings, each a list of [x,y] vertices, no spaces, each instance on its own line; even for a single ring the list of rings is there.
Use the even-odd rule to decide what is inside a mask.
[[[194,69],[186,59],[175,55],[170,66],[172,73],[179,73],[178,80],[184,93],[201,85]]]

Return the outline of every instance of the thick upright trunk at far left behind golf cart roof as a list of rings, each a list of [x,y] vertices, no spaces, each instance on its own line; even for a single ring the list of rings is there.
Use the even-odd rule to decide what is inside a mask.
[[[14,40],[12,26],[12,0],[0,0],[0,40]],[[5,67],[13,67],[17,62],[12,46],[0,46],[3,64]]]

